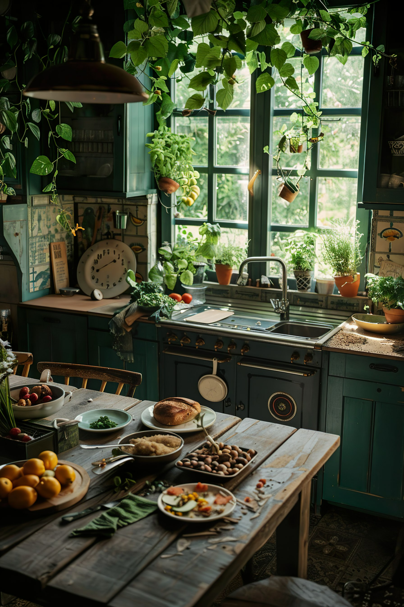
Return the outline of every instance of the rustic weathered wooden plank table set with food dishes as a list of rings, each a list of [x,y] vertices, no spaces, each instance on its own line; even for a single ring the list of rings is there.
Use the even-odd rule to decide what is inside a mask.
[[[77,390],[71,406],[80,406],[80,402],[85,406],[85,397],[94,399],[92,395],[91,391]],[[116,398],[118,407],[130,409],[133,414],[125,434],[142,429],[141,413],[153,403],[142,401],[133,407],[125,402],[133,399],[104,396]],[[101,404],[94,400],[91,405]],[[222,413],[217,414],[210,433],[225,443],[257,450],[254,462],[224,484],[243,501],[252,495],[259,478],[266,478],[266,493],[271,497],[258,516],[250,511],[247,515],[240,514],[237,503],[232,516],[240,520],[233,528],[218,532],[217,536],[191,537],[190,548],[172,558],[161,556],[177,552],[180,537],[208,531],[212,523],[187,525],[158,512],[118,529],[108,540],[71,538],[72,529],[87,524],[99,512],[65,525],[60,523],[61,515],[116,499],[111,477],[118,470],[120,476],[124,476],[124,470],[133,473],[137,481],[131,489],[133,493],[141,492],[146,481],[157,476],[173,484],[203,480],[201,475],[195,478],[192,473],[178,470],[173,463],[161,470],[145,470],[130,462],[124,464],[125,469],[122,466],[111,473],[95,475],[91,471],[94,451],[75,447],[62,456],[80,464],[90,474],[86,497],[70,510],[42,518],[28,520],[27,512],[7,512],[7,520],[2,521],[0,529],[1,591],[43,605],[206,607],[275,529],[278,573],[305,577],[311,479],[339,446],[339,436],[256,419],[241,421]],[[107,435],[102,441],[112,443],[117,438]],[[204,435],[197,432],[184,435],[184,439],[183,453],[194,449]],[[157,494],[150,498],[157,499]]]

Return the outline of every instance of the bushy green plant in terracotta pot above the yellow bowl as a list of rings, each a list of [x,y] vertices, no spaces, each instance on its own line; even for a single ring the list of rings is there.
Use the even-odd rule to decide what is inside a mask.
[[[399,276],[366,274],[368,297],[374,304],[382,304],[389,323],[404,322],[404,279]]]

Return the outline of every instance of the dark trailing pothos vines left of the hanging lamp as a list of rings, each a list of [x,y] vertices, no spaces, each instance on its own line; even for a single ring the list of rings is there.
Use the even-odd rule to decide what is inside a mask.
[[[43,192],[50,193],[51,203],[58,205],[59,214],[56,219],[65,230],[71,230],[73,235],[79,228],[71,225],[71,215],[61,205],[56,186],[56,177],[58,175],[58,161],[61,158],[67,158],[75,163],[75,156],[70,150],[65,148],[65,141],[71,141],[72,132],[68,124],[61,121],[61,103],[55,101],[42,102],[40,107],[31,108],[30,98],[23,96],[26,83],[23,80],[25,67],[32,66],[31,72],[35,70],[45,70],[47,67],[63,63],[68,55],[68,35],[74,32],[80,17],[71,19],[71,8],[67,11],[60,35],[51,33],[47,38],[41,39],[35,37],[34,24],[31,21],[25,21],[21,27],[12,25],[7,31],[7,50],[2,52],[2,65],[0,71],[8,72],[13,76],[2,78],[0,80],[0,95],[7,93],[7,96],[0,97],[0,122],[4,125],[5,134],[0,140],[0,192],[8,195],[15,195],[13,188],[5,183],[5,178],[16,178],[16,160],[12,154],[12,146],[24,146],[28,148],[32,140],[41,139],[41,129],[39,124],[45,123],[42,127],[42,136],[47,137],[47,142],[42,144],[42,149],[46,146],[49,149],[48,155],[39,155],[32,163],[30,172],[35,175],[51,175],[51,181]],[[42,39],[43,38],[43,39]],[[4,50],[4,49],[3,49]],[[82,107],[81,103],[66,101],[63,102],[68,109],[73,112],[75,107]],[[37,105],[37,104],[36,104]]]

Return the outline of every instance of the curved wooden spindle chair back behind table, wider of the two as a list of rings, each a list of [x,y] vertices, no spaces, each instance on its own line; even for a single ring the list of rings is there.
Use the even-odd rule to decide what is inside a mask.
[[[38,362],[36,365],[38,371],[42,373],[45,369],[50,369],[53,375],[61,375],[65,378],[65,384],[71,377],[83,378],[82,388],[87,386],[88,379],[100,379],[101,388],[99,392],[104,392],[107,381],[118,383],[115,394],[121,394],[124,384],[128,384],[127,396],[134,395],[136,387],[142,382],[142,374],[135,371],[124,371],[122,369],[110,369],[109,367],[91,367],[90,365],[76,365],[70,362]]]

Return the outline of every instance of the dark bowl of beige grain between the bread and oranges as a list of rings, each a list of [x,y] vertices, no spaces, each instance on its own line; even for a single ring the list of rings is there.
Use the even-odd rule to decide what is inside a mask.
[[[122,453],[131,455],[133,459],[144,464],[165,464],[179,458],[184,447],[184,440],[164,430],[142,430],[121,438],[119,444],[128,444],[130,447],[121,447]]]

